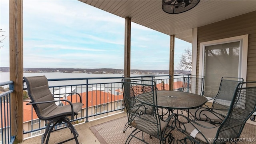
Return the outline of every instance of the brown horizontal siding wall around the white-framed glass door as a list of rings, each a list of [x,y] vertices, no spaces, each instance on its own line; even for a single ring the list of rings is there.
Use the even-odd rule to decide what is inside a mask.
[[[256,11],[198,27],[196,74],[199,74],[200,43],[248,34],[246,81],[256,81]]]

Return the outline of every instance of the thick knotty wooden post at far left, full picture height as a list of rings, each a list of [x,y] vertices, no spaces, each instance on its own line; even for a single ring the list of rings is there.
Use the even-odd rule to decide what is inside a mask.
[[[9,1],[11,135],[14,143],[23,141],[23,0]]]

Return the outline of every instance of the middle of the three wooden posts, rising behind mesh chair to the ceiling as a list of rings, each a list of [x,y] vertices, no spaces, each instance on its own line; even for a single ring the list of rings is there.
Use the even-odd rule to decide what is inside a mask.
[[[131,73],[131,22],[129,17],[125,18],[124,24],[124,75],[130,76]]]

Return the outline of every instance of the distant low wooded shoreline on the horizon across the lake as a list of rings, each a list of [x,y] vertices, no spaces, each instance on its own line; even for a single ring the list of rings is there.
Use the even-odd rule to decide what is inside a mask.
[[[9,72],[9,67],[0,67],[1,72]],[[123,74],[123,69],[114,68],[23,68],[24,72],[65,72],[94,74]],[[190,71],[174,70],[174,74],[191,74]],[[131,70],[131,74],[169,74],[169,70]]]

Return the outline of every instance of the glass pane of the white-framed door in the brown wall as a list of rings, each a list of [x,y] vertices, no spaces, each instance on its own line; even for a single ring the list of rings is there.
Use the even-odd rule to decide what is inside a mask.
[[[239,77],[240,41],[205,46],[204,96],[216,96],[223,76]]]

